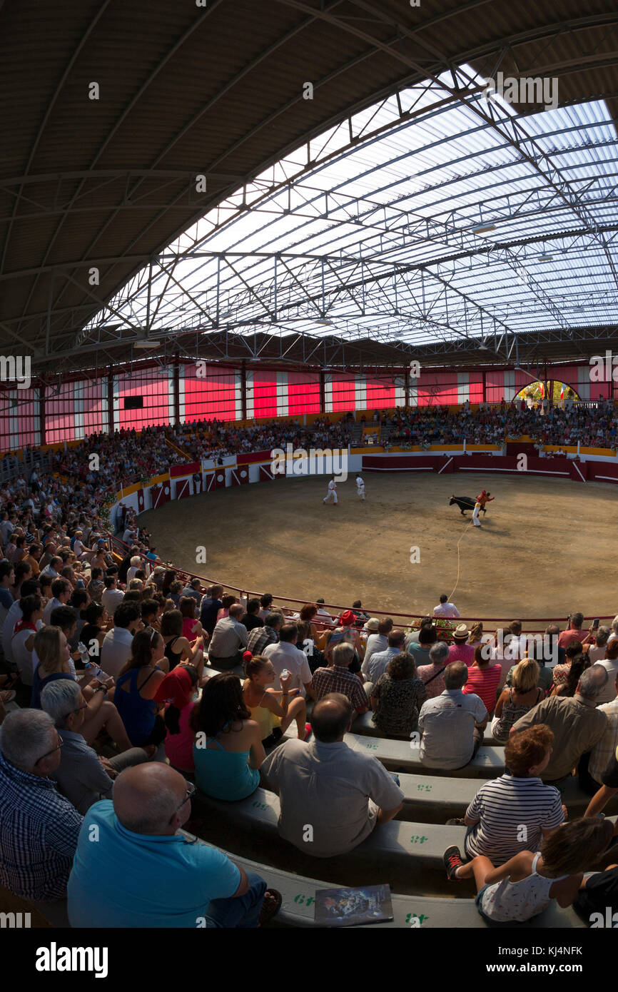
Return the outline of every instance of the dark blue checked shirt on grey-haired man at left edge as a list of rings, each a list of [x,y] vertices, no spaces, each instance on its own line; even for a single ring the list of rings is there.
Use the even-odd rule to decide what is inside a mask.
[[[51,779],[0,753],[0,884],[22,899],[63,899],[81,816]]]

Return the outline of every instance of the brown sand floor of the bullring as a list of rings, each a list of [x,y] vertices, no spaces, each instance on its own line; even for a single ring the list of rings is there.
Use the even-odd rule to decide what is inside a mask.
[[[354,477],[337,485],[339,503],[322,505],[324,477],[219,489],[140,517],[169,559],[245,589],[369,612],[425,613],[450,593],[463,616],[586,618],[614,615],[618,491],[524,473],[370,473],[367,498]],[[451,493],[489,489],[495,501],[468,527]],[[466,530],[467,528],[467,530]],[[463,533],[465,531],[465,534]],[[195,563],[195,549],[206,563]],[[411,562],[418,547],[420,561]]]

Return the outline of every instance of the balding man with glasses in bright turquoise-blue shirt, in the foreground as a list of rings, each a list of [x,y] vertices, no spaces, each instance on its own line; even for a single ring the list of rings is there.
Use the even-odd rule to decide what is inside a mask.
[[[249,928],[274,916],[281,899],[259,875],[177,832],[193,792],[153,762],[122,772],[113,800],[90,806],[68,880],[71,927]]]

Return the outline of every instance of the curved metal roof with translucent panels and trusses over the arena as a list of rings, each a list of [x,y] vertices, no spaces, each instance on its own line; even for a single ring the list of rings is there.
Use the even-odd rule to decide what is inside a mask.
[[[306,217],[305,229],[292,225],[279,235],[280,252],[284,246],[285,250],[295,248],[297,254],[308,255],[312,247],[321,265],[323,255],[331,254],[333,247],[339,254],[352,250],[358,254],[359,245],[367,241],[375,254],[380,234],[384,242],[397,228],[398,209],[393,191],[387,189],[386,164],[381,172],[375,170],[373,153],[367,151],[368,136],[378,129],[384,133],[380,140],[390,135],[393,161],[395,144],[401,142],[403,183],[395,195],[400,197],[399,219],[404,212],[411,215],[408,225],[415,229],[406,236],[416,237],[416,242],[411,253],[400,238],[388,260],[381,259],[386,275],[374,274],[384,278],[372,282],[372,292],[382,292],[385,279],[390,278],[389,266],[391,272],[393,267],[405,269],[413,254],[415,280],[420,278],[420,266],[438,258],[440,266],[455,274],[457,289],[467,295],[461,271],[468,266],[470,278],[476,280],[480,272],[477,269],[474,273],[474,267],[480,265],[479,260],[485,262],[493,256],[491,275],[481,281],[482,286],[478,284],[479,299],[462,304],[464,311],[469,310],[468,319],[476,313],[478,323],[479,307],[491,310],[489,303],[495,292],[492,279],[499,276],[493,262],[502,257],[519,270],[525,282],[528,280],[530,307],[519,323],[509,324],[515,338],[520,330],[536,327],[567,336],[575,323],[585,326],[594,322],[587,315],[585,301],[583,310],[577,312],[586,316],[575,321],[572,294],[566,307],[555,299],[556,285],[563,281],[565,270],[575,266],[577,278],[584,284],[582,294],[595,293],[601,280],[601,294],[607,296],[602,304],[599,297],[594,311],[598,323],[611,324],[615,319],[611,294],[616,289],[612,272],[616,211],[612,201],[618,91],[618,13],[612,6],[606,0],[583,7],[574,0],[543,0],[535,6],[512,5],[505,0],[464,4],[435,0],[430,5],[422,0],[420,7],[394,0],[380,0],[379,4],[377,0],[263,0],[259,5],[250,0],[207,0],[203,8],[163,0],[67,0],[61,19],[52,5],[40,4],[36,9],[32,5],[5,5],[0,12],[3,346],[33,354],[39,366],[83,367],[93,355],[99,363],[125,359],[131,354],[132,342],[152,336],[158,326],[153,318],[153,300],[160,303],[161,283],[155,278],[151,281],[146,323],[140,312],[130,311],[127,316],[116,307],[115,314],[108,310],[104,320],[98,317],[91,326],[89,321],[103,305],[109,307],[123,287],[124,297],[120,293],[117,299],[126,301],[129,293],[139,290],[139,280],[144,283],[151,271],[153,276],[162,276],[168,286],[174,285],[176,260],[166,259],[166,246],[174,246],[174,239],[191,222],[226,199],[236,211],[242,211],[243,202],[253,199],[255,207],[260,200],[262,206],[269,196],[273,203],[279,196],[276,208],[282,209],[283,189],[290,196],[302,197],[310,182],[321,177],[323,195],[323,190],[330,188],[323,184],[334,181],[336,185],[338,180],[342,188],[337,208],[340,212],[351,209],[350,224],[364,228],[360,238],[359,231],[352,236],[337,217],[335,223],[326,225],[328,239],[320,240],[320,225],[314,217]],[[467,80],[461,68],[466,64],[470,66]],[[495,78],[498,70],[517,76],[555,76],[559,109],[528,116],[522,130],[521,116],[515,117],[501,105],[483,107],[478,80]],[[308,82],[313,87],[312,99],[305,98]],[[97,84],[98,92],[93,91],[92,83]],[[393,93],[396,95],[389,99]],[[416,94],[416,102],[407,103],[406,94],[411,93]],[[425,95],[419,97],[421,93]],[[444,109],[434,107],[430,124],[429,107],[436,100],[441,100]],[[515,108],[520,114],[540,110],[538,103],[516,102]],[[461,129],[457,113],[467,115],[467,130]],[[423,115],[424,131],[420,128]],[[549,128],[548,115],[552,117]],[[542,118],[544,123],[537,129]],[[348,129],[345,156],[341,154],[341,127]],[[333,135],[337,135],[338,147],[331,155],[324,155],[322,146],[327,140],[320,136],[328,129],[327,140],[334,144]],[[432,134],[433,146],[439,145],[444,151],[441,160],[437,152],[428,157],[421,147],[427,147]],[[483,144],[487,136],[491,136],[489,143]],[[377,141],[376,136],[371,146],[374,151]],[[358,146],[359,158],[354,167],[355,182],[350,182],[347,174],[337,177],[336,169],[344,158],[350,161],[347,153],[353,145]],[[411,153],[415,169],[428,174],[422,184],[428,188],[415,190],[410,176],[402,175]],[[288,179],[297,173],[293,183],[284,182],[286,177],[278,172],[276,164],[285,157],[294,166]],[[457,175],[456,163],[460,163]],[[365,166],[364,176],[359,165]],[[482,179],[478,173],[473,177],[475,165],[481,167]],[[389,166],[392,168],[391,160]],[[205,177],[205,191],[196,188],[198,176]],[[530,196],[529,207],[534,204],[527,213],[524,188]],[[484,219],[480,211],[490,196],[492,203],[487,207],[504,215],[500,225],[496,224],[500,233],[491,248],[486,240],[479,248],[480,236],[460,231],[456,220],[451,223],[452,230],[447,230],[444,218],[450,214],[460,221],[462,209],[473,222],[474,190],[482,194],[477,195],[477,224]],[[515,223],[502,222],[514,216],[509,196],[517,199],[520,220]],[[297,224],[301,205],[295,200],[290,206],[298,215]],[[314,205],[310,209],[314,211]],[[381,210],[386,219],[379,231],[376,218]],[[328,216],[328,208],[322,212]],[[253,215],[257,216],[255,209]],[[523,231],[522,216],[526,218]],[[281,230],[281,218],[277,222]],[[441,225],[439,234],[430,230],[433,223]],[[421,237],[423,225],[427,233]],[[548,232],[554,245],[556,233],[563,237],[568,257],[561,271],[558,265],[540,263],[547,268],[537,287],[538,270],[532,277],[526,275],[527,253]],[[273,233],[269,230],[269,236]],[[312,242],[306,234],[311,235]],[[452,250],[453,237],[460,242],[456,252]],[[586,238],[589,244],[584,246]],[[201,235],[199,240],[203,240]],[[255,265],[246,258],[246,252],[248,246],[255,251],[256,241],[264,246],[259,231],[253,245],[243,232],[240,252],[245,257],[237,276],[240,283],[244,267]],[[276,254],[276,241],[271,238],[267,253]],[[188,246],[189,241],[179,237],[176,248],[186,252]],[[220,254],[220,247],[216,250]],[[230,250],[227,246],[228,254]],[[546,256],[554,252],[548,246],[542,250]],[[149,268],[141,272],[145,264]],[[159,271],[162,264],[165,274]],[[228,265],[227,256],[223,264]],[[311,260],[304,264],[310,268]],[[360,264],[364,267],[365,263]],[[289,266],[291,273],[286,278],[291,284],[295,276],[297,284],[306,276],[316,278],[308,272],[299,279],[296,266],[297,262]],[[93,269],[98,270],[98,285]],[[256,275],[263,286],[263,270],[254,269],[252,280]],[[133,283],[127,284],[131,277],[135,277]],[[409,276],[408,281],[412,278]],[[435,283],[433,277],[425,275],[423,279],[426,284]],[[95,285],[91,285],[93,281]],[[250,297],[253,285],[245,282]],[[231,330],[240,328],[242,320],[255,323],[251,304],[248,308],[243,304],[246,312],[240,320],[235,292],[230,283],[228,297],[237,318]],[[304,301],[307,293],[298,285],[297,292]],[[441,297],[449,292],[455,292],[454,283],[453,290],[444,290]],[[341,293],[344,295],[343,290]],[[428,310],[429,316],[434,316],[441,297],[436,286],[433,291],[426,286],[425,294],[425,312],[420,310],[412,318],[427,325]],[[415,290],[412,297],[417,300],[418,296]],[[296,302],[291,295],[290,303]],[[189,310],[193,306],[189,304]],[[141,307],[137,298],[136,307]],[[159,311],[161,324],[165,303]],[[174,326],[168,326],[166,318],[164,329],[185,347],[185,337],[194,336],[196,327],[190,313],[186,318],[181,318],[181,313],[185,311],[173,308],[170,316]],[[449,319],[441,321],[446,334],[433,333],[425,343],[445,344],[447,337],[456,336],[451,315],[452,310]],[[543,319],[537,323],[540,315]],[[336,323],[335,316],[333,311]],[[492,320],[498,319],[492,312]],[[204,321],[203,329],[219,327],[220,320],[219,312],[218,321]],[[481,328],[483,336],[491,332],[491,323]],[[307,329],[298,326],[301,332]],[[314,326],[310,329],[315,333]],[[332,329],[322,324],[322,333]],[[370,322],[357,322],[353,329],[341,324],[335,329],[342,337],[380,337]],[[290,327],[286,332],[290,333]],[[419,333],[416,337],[403,333],[397,320],[385,324],[381,334],[389,344],[399,340],[424,344]],[[505,340],[508,348],[508,329]]]

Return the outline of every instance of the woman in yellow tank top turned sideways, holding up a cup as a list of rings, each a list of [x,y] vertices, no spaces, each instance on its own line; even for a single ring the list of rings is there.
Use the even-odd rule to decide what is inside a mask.
[[[262,741],[273,738],[272,743],[279,740],[293,720],[297,722],[299,740],[307,740],[311,732],[307,719],[307,704],[302,696],[297,695],[298,688],[288,689],[292,676],[280,676],[282,691],[269,688],[275,682],[275,669],[272,662],[261,655],[256,655],[245,665],[247,678],[243,682],[243,698],[251,719],[260,727]],[[290,696],[296,698],[290,701]],[[281,702],[279,701],[281,697]]]

